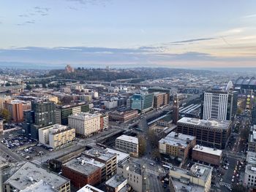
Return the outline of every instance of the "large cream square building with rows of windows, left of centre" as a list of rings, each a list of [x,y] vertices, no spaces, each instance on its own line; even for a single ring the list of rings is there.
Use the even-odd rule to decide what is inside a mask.
[[[69,127],[75,128],[75,134],[78,137],[87,138],[91,134],[97,133],[101,130],[100,113],[80,112],[75,115],[70,115]]]

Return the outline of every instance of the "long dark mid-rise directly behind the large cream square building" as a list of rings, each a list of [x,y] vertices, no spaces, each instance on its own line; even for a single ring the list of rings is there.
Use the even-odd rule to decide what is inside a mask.
[[[69,115],[74,115],[79,112],[89,112],[89,104],[80,102],[77,104],[58,105],[56,106],[56,123],[66,126],[68,124]]]

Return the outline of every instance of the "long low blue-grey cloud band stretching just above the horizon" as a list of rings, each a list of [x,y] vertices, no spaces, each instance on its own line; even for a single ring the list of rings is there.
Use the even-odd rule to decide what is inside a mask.
[[[161,47],[108,48],[108,47],[12,47],[0,49],[0,62],[45,64],[132,64],[134,66],[161,66],[163,64],[215,64],[255,62],[256,57],[217,57],[207,53],[164,53]],[[255,64],[255,63],[253,63]]]

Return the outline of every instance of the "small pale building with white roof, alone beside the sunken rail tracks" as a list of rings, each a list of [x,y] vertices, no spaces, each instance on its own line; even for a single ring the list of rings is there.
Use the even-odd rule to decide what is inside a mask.
[[[139,141],[137,137],[121,135],[116,138],[116,149],[131,153],[135,157],[139,154]]]

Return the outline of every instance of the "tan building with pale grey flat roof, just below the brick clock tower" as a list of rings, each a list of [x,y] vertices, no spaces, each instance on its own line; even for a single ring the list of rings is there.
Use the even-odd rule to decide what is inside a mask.
[[[194,136],[170,132],[165,138],[159,140],[159,153],[172,155],[185,161],[195,145]]]

